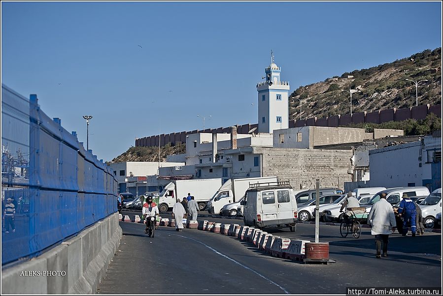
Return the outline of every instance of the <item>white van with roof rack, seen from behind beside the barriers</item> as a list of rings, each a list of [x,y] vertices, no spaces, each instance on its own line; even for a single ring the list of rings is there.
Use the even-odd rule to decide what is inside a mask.
[[[297,202],[289,181],[251,184],[241,203],[246,226],[296,229]]]

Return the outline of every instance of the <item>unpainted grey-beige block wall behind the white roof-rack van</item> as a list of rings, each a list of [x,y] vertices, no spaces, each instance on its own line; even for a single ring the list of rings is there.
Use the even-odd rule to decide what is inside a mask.
[[[290,181],[294,189],[312,189],[315,180],[321,187],[343,188],[352,181],[351,150],[254,148],[262,153],[262,176],[277,176]]]

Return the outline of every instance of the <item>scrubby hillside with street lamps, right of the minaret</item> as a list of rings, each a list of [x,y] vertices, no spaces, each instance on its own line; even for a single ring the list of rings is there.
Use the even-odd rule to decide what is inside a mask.
[[[299,99],[302,99],[303,119],[349,114],[350,96],[341,89],[361,91],[352,94],[352,113],[415,106],[415,84],[406,78],[428,79],[418,85],[418,105],[441,104],[441,50],[427,49],[392,63],[301,86],[289,96],[289,119],[300,119]]]

